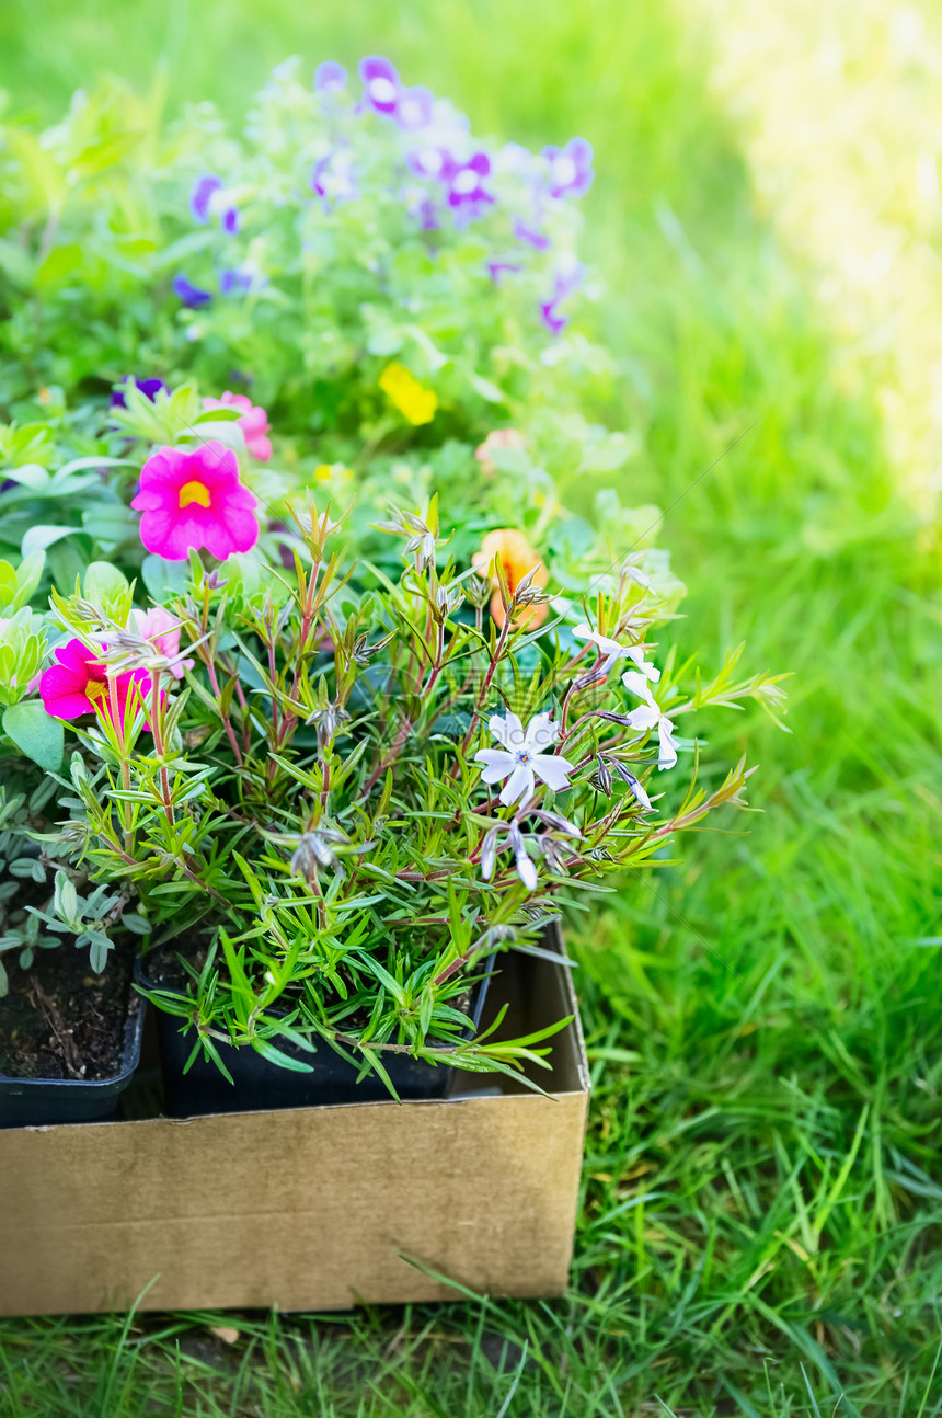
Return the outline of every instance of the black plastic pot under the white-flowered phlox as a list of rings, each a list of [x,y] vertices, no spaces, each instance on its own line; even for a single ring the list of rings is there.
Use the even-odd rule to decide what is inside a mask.
[[[473,1038],[480,1025],[480,1017],[487,997],[493,957],[482,967],[487,973],[475,986],[469,1017],[473,1028],[466,1038]],[[137,981],[144,990],[154,986],[137,966]],[[164,1112],[169,1117],[198,1117],[207,1113],[258,1113],[282,1107],[323,1107],[333,1103],[382,1103],[391,1102],[390,1090],[375,1073],[367,1073],[357,1082],[358,1068],[348,1064],[327,1044],[319,1042],[316,1052],[299,1049],[286,1039],[273,1039],[279,1052],[300,1059],[312,1066],[312,1072],[297,1073],[278,1064],[269,1064],[252,1048],[235,1048],[231,1044],[217,1045],[222,1061],[232,1075],[232,1083],[220,1072],[211,1059],[197,1055],[190,1069],[184,1068],[195,1034],[193,1029],[180,1032],[176,1015],[154,1011],[157,1018],[157,1042],[160,1046],[160,1068],[164,1086]],[[455,1069],[445,1064],[425,1064],[409,1054],[382,1055],[382,1066],[392,1081],[402,1102],[445,1098]]]

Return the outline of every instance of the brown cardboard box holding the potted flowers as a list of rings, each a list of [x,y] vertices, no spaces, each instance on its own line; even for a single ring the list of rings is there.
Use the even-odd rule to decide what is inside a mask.
[[[588,1109],[569,971],[499,960],[510,1035],[572,1014],[551,1098],[455,1096],[0,1132],[0,1314],[347,1309],[567,1288]],[[425,1268],[421,1269],[419,1266]],[[146,1293],[144,1293],[146,1292]]]

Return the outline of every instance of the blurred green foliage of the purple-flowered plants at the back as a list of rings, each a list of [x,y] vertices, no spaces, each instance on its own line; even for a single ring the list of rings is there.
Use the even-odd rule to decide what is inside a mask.
[[[445,101],[422,139],[354,99],[316,92],[289,61],[238,138],[211,105],[164,125],[156,94],[110,79],[45,132],[0,122],[0,408],[103,391],[127,370],[193,372],[220,390],[251,384],[334,461],[363,438],[476,438],[509,410],[603,397],[608,354],[575,333],[550,350],[541,323],[560,274],[578,269],[581,224],[572,201],[538,196],[545,160],[472,138]],[[490,150],[473,220],[416,167],[424,142],[462,160]],[[237,233],[221,210],[190,210],[208,173]],[[198,308],[181,303],[178,277],[204,291]],[[392,369],[428,386],[433,431],[432,414],[387,394]],[[160,432],[156,410],[127,413],[118,421],[154,441],[178,432]]]

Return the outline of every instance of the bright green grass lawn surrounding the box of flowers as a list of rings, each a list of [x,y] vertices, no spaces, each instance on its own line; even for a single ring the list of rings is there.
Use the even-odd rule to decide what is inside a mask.
[[[0,84],[50,115],[161,48],[173,102],[228,108],[288,52],[377,51],[477,126],[589,136],[612,418],[643,438],[622,495],[670,509],[690,647],[795,679],[790,735],[730,713],[704,756],[748,740],[764,813],[574,927],[596,1092],[567,1299],[0,1322],[0,1418],[942,1412],[939,564],[875,390],[846,391],[752,214],[707,57],[666,0],[44,16],[6,0]]]

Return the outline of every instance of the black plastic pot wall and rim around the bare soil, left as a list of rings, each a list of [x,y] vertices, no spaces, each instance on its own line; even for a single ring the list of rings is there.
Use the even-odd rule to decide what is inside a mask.
[[[146,1001],[132,993],[120,1068],[113,1078],[8,1078],[0,1073],[0,1127],[102,1123],[113,1117],[140,1062]]]

